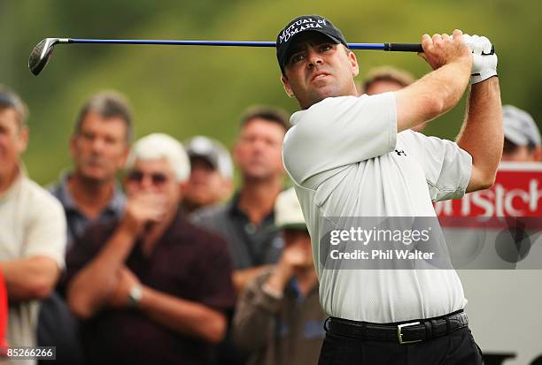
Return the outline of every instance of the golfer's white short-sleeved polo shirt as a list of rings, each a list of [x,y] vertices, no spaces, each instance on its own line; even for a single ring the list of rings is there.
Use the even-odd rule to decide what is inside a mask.
[[[435,217],[459,198],[471,157],[452,141],[397,133],[395,95],[327,98],[294,113],[283,161],[313,242],[329,316],[391,323],[464,308],[455,270],[331,270],[321,265],[321,217]]]

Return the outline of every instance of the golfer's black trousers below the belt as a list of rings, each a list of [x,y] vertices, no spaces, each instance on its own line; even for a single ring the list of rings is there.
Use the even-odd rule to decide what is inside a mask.
[[[468,327],[440,338],[399,345],[326,333],[318,365],[480,365],[482,351]]]

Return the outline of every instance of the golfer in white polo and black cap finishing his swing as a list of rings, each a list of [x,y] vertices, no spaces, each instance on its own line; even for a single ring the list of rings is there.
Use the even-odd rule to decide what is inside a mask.
[[[311,234],[322,308],[330,318],[320,364],[481,364],[454,270],[332,270],[322,218],[435,217],[431,202],[492,186],[502,151],[497,56],[485,37],[422,36],[432,72],[399,91],[356,93],[358,61],[317,15],[277,36],[291,116],[283,160]],[[451,110],[469,87],[457,141],[410,128]]]

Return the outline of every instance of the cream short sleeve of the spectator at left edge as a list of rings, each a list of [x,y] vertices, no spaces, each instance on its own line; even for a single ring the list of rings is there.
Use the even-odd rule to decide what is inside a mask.
[[[27,225],[25,257],[47,256],[64,269],[66,251],[66,216],[64,209],[48,192],[35,194],[34,214]]]

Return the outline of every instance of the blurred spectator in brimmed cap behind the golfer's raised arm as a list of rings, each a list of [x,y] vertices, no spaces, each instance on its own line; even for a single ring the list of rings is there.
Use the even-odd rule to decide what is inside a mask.
[[[391,66],[380,66],[368,71],[367,77],[363,81],[363,90],[367,95],[382,94],[407,87],[414,81],[414,76],[410,72]],[[416,125],[412,130],[422,132],[425,125],[427,122]]]

